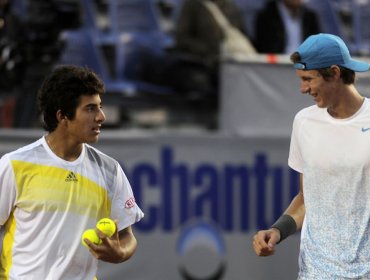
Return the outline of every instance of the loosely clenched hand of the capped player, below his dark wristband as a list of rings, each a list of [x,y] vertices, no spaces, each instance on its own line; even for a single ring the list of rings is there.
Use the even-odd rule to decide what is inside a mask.
[[[275,245],[280,240],[280,231],[276,228],[260,230],[253,237],[253,249],[258,256],[271,256],[275,253]]]

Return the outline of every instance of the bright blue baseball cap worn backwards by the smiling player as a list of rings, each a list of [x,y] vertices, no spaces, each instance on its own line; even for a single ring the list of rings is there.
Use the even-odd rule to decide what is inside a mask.
[[[355,72],[369,70],[369,63],[352,59],[346,44],[341,38],[332,34],[309,36],[296,50],[301,61],[294,63],[294,68],[316,70],[332,65],[342,66]]]

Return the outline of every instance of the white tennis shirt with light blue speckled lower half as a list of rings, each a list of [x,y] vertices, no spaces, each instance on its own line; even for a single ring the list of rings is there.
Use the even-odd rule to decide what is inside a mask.
[[[370,102],[348,119],[316,105],[293,123],[289,166],[303,174],[299,279],[370,279]]]

